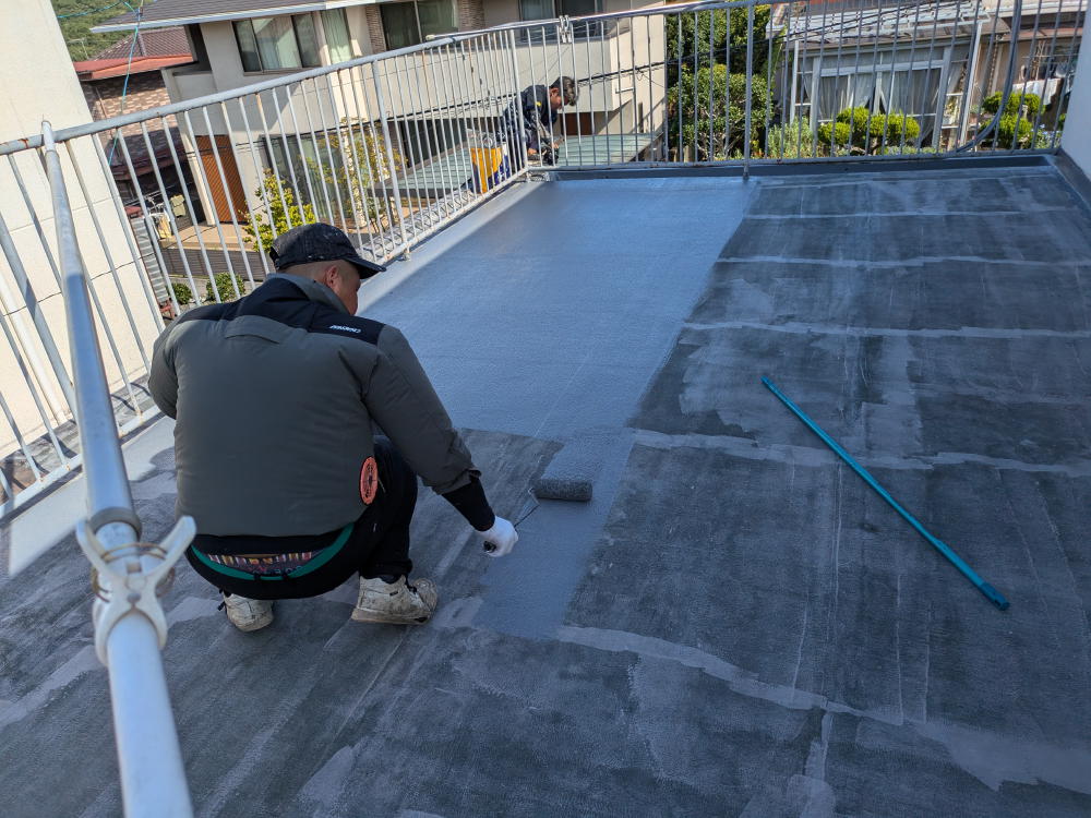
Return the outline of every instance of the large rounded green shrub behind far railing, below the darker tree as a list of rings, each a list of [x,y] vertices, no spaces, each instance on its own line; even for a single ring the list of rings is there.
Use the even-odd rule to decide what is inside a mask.
[[[764,121],[769,87],[765,77],[755,76],[751,83],[752,122]],[[695,147],[698,161],[722,159],[733,151],[741,151],[746,127],[746,75],[728,74],[723,64],[707,65],[694,75],[683,69],[678,84],[668,95],[670,110],[671,145],[679,147],[679,117],[681,109],[681,147]],[[709,116],[711,111],[711,116]],[[762,129],[753,128],[752,148],[763,142]]]

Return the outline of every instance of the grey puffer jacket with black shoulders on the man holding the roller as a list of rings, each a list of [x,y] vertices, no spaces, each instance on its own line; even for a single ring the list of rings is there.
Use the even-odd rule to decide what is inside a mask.
[[[316,281],[278,274],[185,313],[156,341],[148,385],[177,419],[178,512],[201,533],[316,534],[357,519],[373,421],[436,492],[472,484],[491,525],[480,472],[401,333],[350,315]]]

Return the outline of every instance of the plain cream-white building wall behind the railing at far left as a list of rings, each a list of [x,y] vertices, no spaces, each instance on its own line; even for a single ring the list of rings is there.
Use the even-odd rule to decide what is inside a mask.
[[[55,130],[89,122],[92,117],[80,88],[60,28],[48,0],[24,0],[4,4],[4,24],[0,26],[0,142],[37,134],[41,121],[49,120]],[[33,76],[33,80],[31,79]],[[127,376],[140,375],[144,370],[142,353],[151,349],[158,334],[158,311],[148,303],[144,289],[144,272],[137,269],[125,240],[128,225],[118,216],[112,199],[113,182],[103,171],[92,142],[83,137],[72,143],[71,149],[84,177],[87,194],[84,196],[72,165],[69,148],[61,146],[65,165],[69,197],[73,207],[80,246],[95,294],[101,302],[103,316],[98,317],[101,333],[103,318],[109,325],[118,348],[117,357],[110,350],[105,334],[100,345],[106,359],[106,372],[112,387]],[[56,226],[49,184],[37,152],[14,155],[14,165],[26,185],[29,208],[24,203],[15,171],[7,158],[0,159],[0,214],[11,232],[16,254],[26,269],[37,300],[40,302],[49,333],[64,365],[69,365],[68,334],[60,286],[51,264],[58,258]],[[100,242],[92,218],[99,219],[105,242]],[[38,237],[35,217],[45,237]],[[108,256],[112,258],[120,279],[115,284]],[[0,297],[2,312],[9,327],[17,336],[17,353],[37,370],[36,388],[46,397],[51,409],[50,422],[67,417],[68,407],[61,397],[58,378],[44,363],[45,347],[33,327],[17,289],[11,265],[0,256]],[[132,324],[123,302],[131,305]],[[25,438],[32,440],[45,431],[45,423],[34,406],[32,393],[17,366],[16,350],[0,334],[0,384],[3,398],[11,409],[15,425]],[[15,433],[11,424],[0,417],[0,456],[14,447]]]

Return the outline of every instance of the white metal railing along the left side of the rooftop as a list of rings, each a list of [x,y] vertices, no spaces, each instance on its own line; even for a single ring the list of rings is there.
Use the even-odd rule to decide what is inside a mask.
[[[261,284],[284,230],[327,221],[384,262],[525,175],[475,182],[489,156],[470,151],[517,96],[515,48],[447,37],[58,130],[116,432],[157,414],[144,381],[165,321]],[[0,516],[82,462],[43,151],[40,134],[0,145]]]

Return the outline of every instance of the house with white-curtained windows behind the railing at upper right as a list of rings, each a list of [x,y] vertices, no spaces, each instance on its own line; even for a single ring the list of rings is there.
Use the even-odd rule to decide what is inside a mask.
[[[988,119],[981,101],[1003,88],[1012,40],[1014,91],[1039,95],[1044,116],[1075,76],[1084,16],[1084,0],[1024,3],[1014,36],[1011,0],[846,0],[794,16],[790,8],[779,7],[777,19],[793,67],[782,91],[788,119],[817,130],[847,107],[900,111],[920,123],[921,144],[936,149]]]

